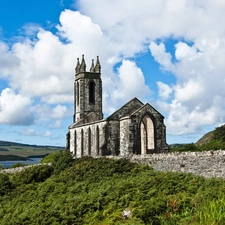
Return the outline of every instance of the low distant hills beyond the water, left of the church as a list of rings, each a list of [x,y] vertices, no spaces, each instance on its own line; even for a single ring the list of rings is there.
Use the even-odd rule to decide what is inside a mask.
[[[28,145],[9,141],[0,141],[0,161],[7,158],[10,160],[10,155],[20,157],[40,156],[50,154],[54,151],[63,150],[63,147],[56,146],[39,146]],[[6,157],[6,155],[8,157]],[[15,157],[14,157],[15,158]],[[19,157],[18,157],[19,159]]]

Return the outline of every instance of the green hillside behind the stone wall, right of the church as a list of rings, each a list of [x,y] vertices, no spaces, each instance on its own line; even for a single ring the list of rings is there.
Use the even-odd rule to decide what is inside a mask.
[[[171,152],[198,152],[225,149],[225,126],[216,127],[205,134],[196,144],[174,144]]]

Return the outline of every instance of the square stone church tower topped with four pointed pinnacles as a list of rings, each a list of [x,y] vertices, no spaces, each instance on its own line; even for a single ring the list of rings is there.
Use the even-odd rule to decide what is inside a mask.
[[[90,72],[86,72],[86,63],[82,55],[81,63],[77,59],[74,82],[74,123],[85,124],[101,120],[102,80],[101,65],[97,56],[96,64],[92,59]]]

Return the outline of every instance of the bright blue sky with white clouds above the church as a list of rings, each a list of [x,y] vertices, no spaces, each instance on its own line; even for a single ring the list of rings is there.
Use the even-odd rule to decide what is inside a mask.
[[[134,97],[167,143],[225,121],[224,0],[1,0],[0,140],[66,145],[77,58],[99,56],[103,113]]]

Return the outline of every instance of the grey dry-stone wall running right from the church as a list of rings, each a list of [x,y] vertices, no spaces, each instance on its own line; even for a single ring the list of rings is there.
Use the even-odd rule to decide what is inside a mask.
[[[107,156],[108,158],[125,158]],[[145,163],[158,171],[189,172],[204,177],[225,178],[225,150],[153,155],[130,155],[132,162]]]

